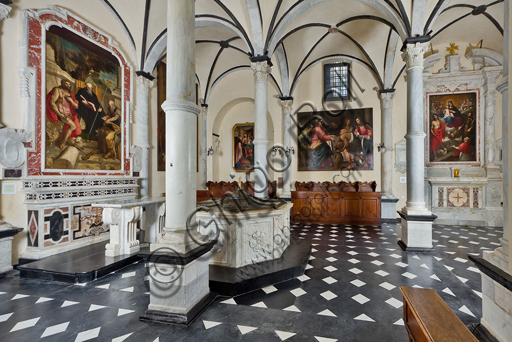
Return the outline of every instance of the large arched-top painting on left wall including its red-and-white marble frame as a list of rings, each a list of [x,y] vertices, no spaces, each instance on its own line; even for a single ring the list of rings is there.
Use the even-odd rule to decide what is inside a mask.
[[[35,70],[38,88],[28,174],[129,175],[126,58],[111,37],[65,10],[37,15],[26,19],[25,70]]]

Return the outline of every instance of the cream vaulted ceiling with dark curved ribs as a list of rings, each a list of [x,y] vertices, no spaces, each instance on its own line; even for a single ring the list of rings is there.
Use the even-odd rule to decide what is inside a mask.
[[[137,70],[152,73],[165,58],[167,1],[98,1],[132,42]],[[428,35],[432,50],[463,42],[501,53],[503,12],[503,0],[197,0],[201,94],[207,101],[225,75],[247,70],[257,55],[271,59],[282,96],[293,95],[300,76],[327,59],[359,63],[377,87],[393,88],[406,39]]]

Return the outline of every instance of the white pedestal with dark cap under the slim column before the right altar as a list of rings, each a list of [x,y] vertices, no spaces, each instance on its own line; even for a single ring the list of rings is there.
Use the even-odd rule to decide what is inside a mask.
[[[432,245],[432,222],[435,215],[406,215],[398,211],[402,219],[397,229],[398,245],[407,252],[430,252]]]

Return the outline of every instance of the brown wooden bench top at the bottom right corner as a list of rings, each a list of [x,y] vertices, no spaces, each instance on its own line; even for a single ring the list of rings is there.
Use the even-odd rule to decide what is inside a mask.
[[[404,324],[413,342],[478,342],[436,291],[400,287]]]

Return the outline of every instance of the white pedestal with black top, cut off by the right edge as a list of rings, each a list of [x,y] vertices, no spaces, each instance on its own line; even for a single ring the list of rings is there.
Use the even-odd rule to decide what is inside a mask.
[[[482,275],[482,325],[501,342],[512,336],[512,276],[483,258],[469,256]]]

